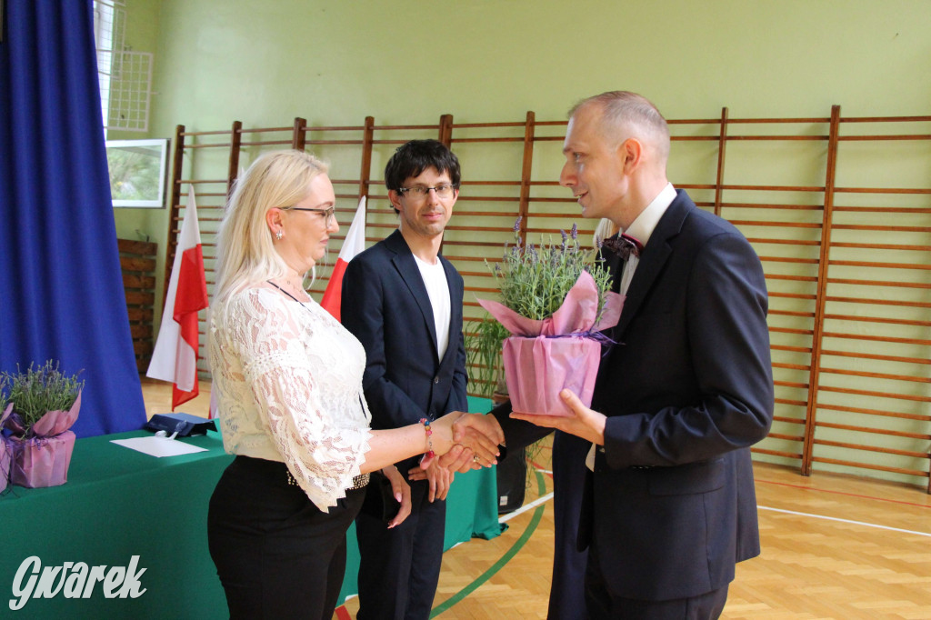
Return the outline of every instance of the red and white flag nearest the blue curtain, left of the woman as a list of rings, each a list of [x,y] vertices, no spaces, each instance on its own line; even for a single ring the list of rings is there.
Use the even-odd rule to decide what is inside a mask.
[[[174,411],[200,393],[197,387],[197,312],[208,305],[194,187],[187,195],[168,287],[155,352],[145,374],[174,384],[171,391],[171,411]]]

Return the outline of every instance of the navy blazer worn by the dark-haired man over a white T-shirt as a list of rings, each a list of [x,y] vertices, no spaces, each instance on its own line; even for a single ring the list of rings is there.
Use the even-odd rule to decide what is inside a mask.
[[[345,328],[365,347],[362,388],[374,429],[467,411],[463,278],[445,258],[439,256],[439,261],[450,288],[451,310],[449,345],[442,359],[424,279],[400,231],[361,252],[346,267],[340,313]],[[410,460],[407,465],[415,463]]]

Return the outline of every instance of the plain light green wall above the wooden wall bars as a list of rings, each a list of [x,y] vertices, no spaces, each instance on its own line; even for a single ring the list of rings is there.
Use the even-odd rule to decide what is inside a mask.
[[[929,33],[918,0],[131,0],[126,40],[155,52],[148,137],[170,137],[295,116],[557,120],[615,88],[671,118],[926,115]],[[117,209],[117,233],[164,247],[167,217]]]

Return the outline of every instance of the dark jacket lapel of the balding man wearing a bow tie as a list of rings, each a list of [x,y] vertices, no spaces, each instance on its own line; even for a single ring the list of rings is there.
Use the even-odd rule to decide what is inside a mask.
[[[624,300],[624,309],[621,311],[621,318],[614,328],[614,340],[622,342],[624,332],[631,319],[637,316],[643,300],[646,299],[647,293],[653,288],[656,277],[663,270],[663,265],[668,261],[672,253],[672,246],[669,240],[677,236],[682,228],[682,223],[688,216],[690,209],[695,209],[691,198],[681,190],[677,190],[676,199],[672,201],[666,213],[656,224],[650,240],[641,254],[640,263],[637,264],[637,271],[630,281],[627,288],[627,298]]]

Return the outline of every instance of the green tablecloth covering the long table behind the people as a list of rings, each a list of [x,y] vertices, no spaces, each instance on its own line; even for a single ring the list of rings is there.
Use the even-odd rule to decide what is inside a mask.
[[[17,618],[224,618],[223,588],[207,548],[210,493],[232,456],[217,433],[183,441],[208,452],[155,458],[110,442],[145,432],[78,439],[68,482],[49,489],[9,487],[0,496],[0,616]],[[473,533],[500,532],[494,471],[457,475],[449,495],[446,548]],[[355,592],[358,550],[349,532],[343,596]],[[31,599],[17,612],[9,600],[23,560],[123,566],[140,556],[138,599]],[[56,581],[55,583],[58,583]],[[22,584],[24,585],[24,584]]]

